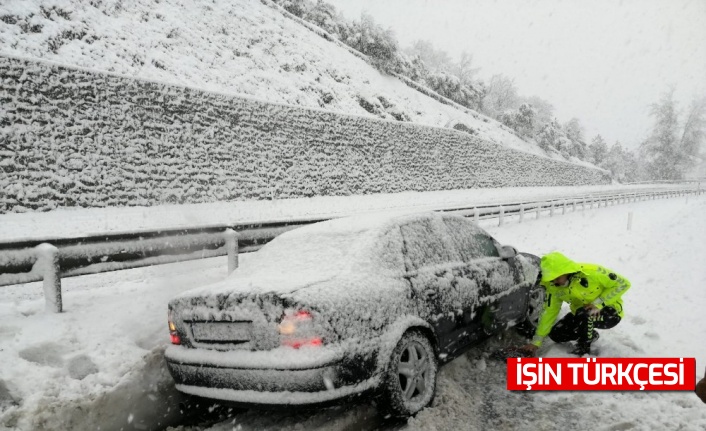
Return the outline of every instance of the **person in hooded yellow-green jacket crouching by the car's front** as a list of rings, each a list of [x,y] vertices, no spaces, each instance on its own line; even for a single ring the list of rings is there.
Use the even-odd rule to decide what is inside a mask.
[[[576,340],[572,353],[590,354],[596,329],[612,328],[623,318],[622,296],[630,282],[600,265],[576,263],[559,252],[542,256],[540,269],[540,284],[546,289],[544,309],[532,342],[521,349],[534,355],[549,336],[557,343]],[[571,312],[556,322],[564,302]]]

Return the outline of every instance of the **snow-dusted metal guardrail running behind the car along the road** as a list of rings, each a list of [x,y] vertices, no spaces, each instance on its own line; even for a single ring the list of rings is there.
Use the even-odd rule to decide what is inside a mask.
[[[701,193],[700,187],[681,187],[435,210],[473,217],[475,221],[497,218],[498,224],[503,225],[508,217],[513,216],[517,216],[522,223],[528,213],[534,213],[535,218],[543,213],[551,217],[559,212],[575,212],[579,207],[585,210],[600,208],[601,205],[606,207]],[[0,243],[0,286],[43,281],[46,309],[61,312],[61,278],[224,255],[228,256],[230,273],[238,266],[239,252],[256,251],[281,233],[323,220],[318,218]]]

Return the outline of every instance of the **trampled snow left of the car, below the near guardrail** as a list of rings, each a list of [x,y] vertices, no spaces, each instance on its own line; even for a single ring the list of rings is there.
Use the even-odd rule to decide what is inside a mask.
[[[223,278],[223,259],[64,279],[61,314],[44,311],[40,283],[0,288],[0,429],[175,423],[166,304]]]

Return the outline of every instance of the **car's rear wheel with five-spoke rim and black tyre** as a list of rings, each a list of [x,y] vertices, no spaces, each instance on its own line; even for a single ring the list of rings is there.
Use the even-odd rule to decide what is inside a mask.
[[[383,407],[392,416],[408,417],[431,404],[439,364],[424,334],[407,331],[395,346],[383,381]]]

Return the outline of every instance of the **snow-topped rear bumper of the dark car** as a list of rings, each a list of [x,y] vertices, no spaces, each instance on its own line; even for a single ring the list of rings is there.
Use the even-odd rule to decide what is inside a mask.
[[[170,346],[167,367],[177,389],[207,398],[259,405],[315,404],[374,388],[374,360],[347,359],[325,347],[219,352]]]

